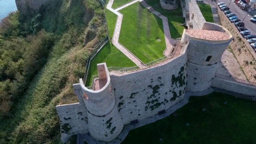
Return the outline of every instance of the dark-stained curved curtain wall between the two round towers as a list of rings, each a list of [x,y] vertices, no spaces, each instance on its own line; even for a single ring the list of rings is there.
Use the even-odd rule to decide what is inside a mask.
[[[167,64],[123,76],[111,75],[123,123],[142,120],[170,108],[184,98],[187,53]]]

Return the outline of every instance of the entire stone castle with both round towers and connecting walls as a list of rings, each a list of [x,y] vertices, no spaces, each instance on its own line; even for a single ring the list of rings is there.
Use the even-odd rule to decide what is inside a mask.
[[[255,86],[215,75],[232,40],[229,31],[205,22],[195,1],[181,1],[181,5],[188,30],[171,57],[126,72],[108,71],[107,64],[100,63],[92,90],[82,79],[73,84],[79,102],[56,106],[63,142],[78,134],[78,143],[120,143],[130,129],[168,116],[190,95],[226,90],[249,99],[255,96]]]

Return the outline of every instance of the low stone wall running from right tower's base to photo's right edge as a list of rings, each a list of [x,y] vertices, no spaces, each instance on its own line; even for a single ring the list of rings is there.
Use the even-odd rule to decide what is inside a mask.
[[[214,77],[212,82],[213,87],[225,89],[232,92],[237,92],[245,95],[256,96],[256,87],[239,82],[234,82],[219,77]]]

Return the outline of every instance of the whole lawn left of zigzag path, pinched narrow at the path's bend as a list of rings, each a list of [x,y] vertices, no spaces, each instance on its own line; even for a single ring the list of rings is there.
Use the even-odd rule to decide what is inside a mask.
[[[107,24],[108,24],[108,34],[109,38],[112,40],[114,29],[116,25],[117,15],[108,9],[105,9]],[[92,84],[92,76],[97,75],[97,64],[106,62],[107,67],[133,67],[136,66],[128,57],[126,57],[121,51],[119,51],[111,42],[108,42],[100,52],[92,59],[88,76],[86,79],[86,86]]]

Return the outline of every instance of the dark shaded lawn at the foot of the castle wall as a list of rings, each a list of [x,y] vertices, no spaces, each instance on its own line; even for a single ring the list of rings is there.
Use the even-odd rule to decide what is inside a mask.
[[[255,101],[218,92],[190,97],[172,115],[131,130],[122,144],[256,144],[255,109]]]

